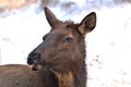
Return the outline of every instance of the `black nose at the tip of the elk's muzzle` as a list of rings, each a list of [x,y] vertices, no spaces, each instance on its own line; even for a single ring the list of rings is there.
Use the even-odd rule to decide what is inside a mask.
[[[40,59],[40,54],[31,53],[27,58],[27,64],[35,64]]]

